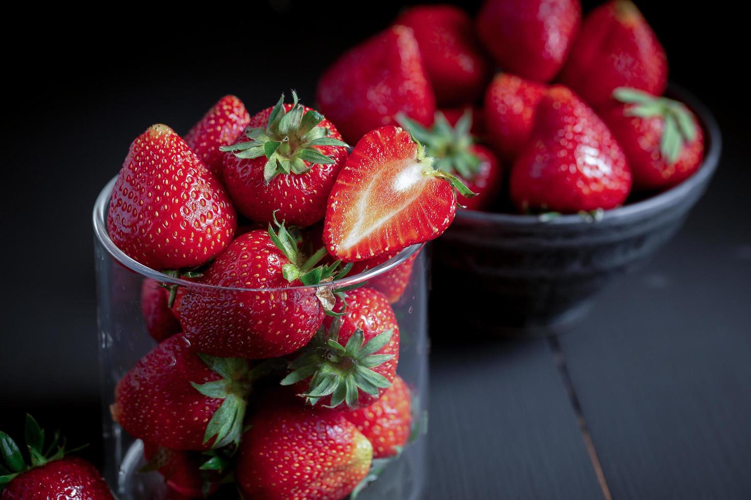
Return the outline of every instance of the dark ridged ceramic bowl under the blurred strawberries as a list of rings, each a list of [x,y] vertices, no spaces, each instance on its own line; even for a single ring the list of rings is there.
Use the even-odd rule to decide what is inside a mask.
[[[470,310],[465,326],[469,320],[490,332],[559,333],[586,316],[603,286],[662,247],[707,189],[722,147],[709,110],[686,91],[671,87],[670,94],[704,127],[704,163],[694,175],[596,221],[459,211],[433,247],[433,318],[448,322],[448,311]]]

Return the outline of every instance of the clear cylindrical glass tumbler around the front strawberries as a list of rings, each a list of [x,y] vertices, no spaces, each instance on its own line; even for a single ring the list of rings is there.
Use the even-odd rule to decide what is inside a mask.
[[[183,286],[189,292],[213,295],[247,294],[249,290],[222,289],[176,279],[146,268],[122,253],[107,235],[107,209],[113,184],[114,179],[101,191],[93,214],[106,451],[104,475],[120,500],[184,498],[173,497],[158,472],[140,472],[146,465],[143,442],[128,436],[110,415],[110,404],[119,380],[156,346],[156,341],[147,332],[142,312],[144,281]],[[357,499],[418,499],[424,494],[427,473],[424,439],[428,355],[427,258],[420,250],[420,245],[409,247],[382,265],[327,283],[327,286],[358,284],[379,289],[397,273],[399,277],[405,276],[400,271],[412,265],[412,273],[403,283],[406,284],[403,293],[400,297],[390,298],[400,329],[397,373],[412,393],[412,435],[397,457],[374,460],[368,477],[371,481],[357,493]],[[391,279],[389,283],[393,282]],[[288,289],[288,292],[315,292],[315,288],[298,287]]]

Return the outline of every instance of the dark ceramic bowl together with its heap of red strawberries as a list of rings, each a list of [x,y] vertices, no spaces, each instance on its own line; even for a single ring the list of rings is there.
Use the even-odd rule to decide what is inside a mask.
[[[706,187],[719,133],[667,88],[665,50],[632,1],[583,16],[578,0],[487,0],[474,19],[409,8],[335,61],[317,98],[345,139],[399,123],[478,193],[436,242],[433,310],[473,309],[478,296],[456,290],[474,289],[499,307],[473,326],[523,333],[583,317]]]

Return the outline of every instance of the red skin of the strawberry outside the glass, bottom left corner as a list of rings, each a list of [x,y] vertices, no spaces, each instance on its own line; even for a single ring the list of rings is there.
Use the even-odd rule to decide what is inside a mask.
[[[92,464],[75,457],[53,460],[23,472],[0,493],[2,500],[113,500]]]

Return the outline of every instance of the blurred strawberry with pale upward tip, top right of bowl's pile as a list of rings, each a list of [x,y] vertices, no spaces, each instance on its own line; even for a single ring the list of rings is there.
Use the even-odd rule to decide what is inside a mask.
[[[668,61],[638,8],[629,0],[611,0],[584,19],[561,81],[598,107],[617,87],[661,95]]]

